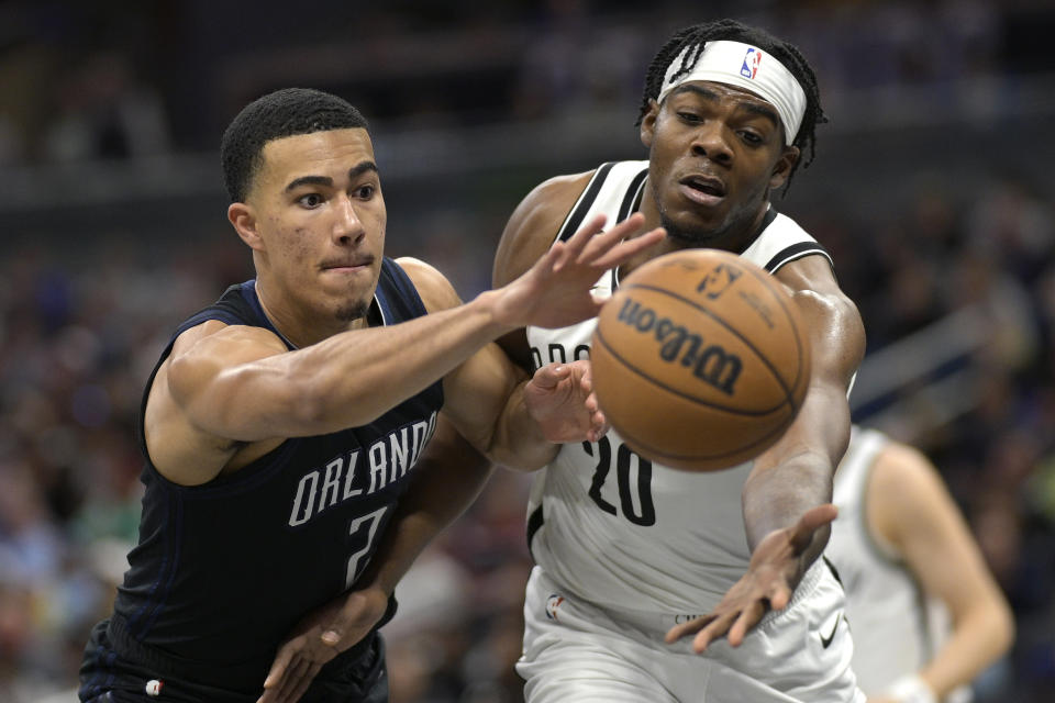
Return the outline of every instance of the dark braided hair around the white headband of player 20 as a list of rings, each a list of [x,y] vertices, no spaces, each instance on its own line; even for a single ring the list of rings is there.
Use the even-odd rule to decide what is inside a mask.
[[[799,167],[799,164],[801,163],[803,167],[808,167],[813,160],[817,150],[817,125],[828,122],[828,115],[824,114],[824,110],[821,108],[821,91],[817,86],[817,76],[813,74],[813,68],[806,60],[806,57],[802,56],[802,53],[799,52],[798,47],[793,44],[779,40],[765,30],[748,26],[736,20],[726,19],[696,24],[676,32],[667,43],[663,45],[659,52],[656,53],[652,59],[652,64],[648,66],[648,75],[645,77],[645,90],[641,99],[641,112],[637,115],[637,122],[635,124],[641,126],[641,121],[648,113],[651,101],[658,99],[659,91],[663,88],[663,80],[667,75],[667,69],[671,62],[674,62],[686,47],[692,47],[685,53],[681,66],[678,67],[674,77],[684,76],[696,66],[700,54],[703,52],[703,45],[707,42],[720,40],[743,42],[768,52],[784,64],[785,68],[791,71],[791,75],[795,76],[796,80],[798,80],[802,87],[803,92],[806,92],[806,112],[802,115],[802,124],[799,126],[798,134],[795,135],[792,145],[799,147],[802,154],[806,154],[807,147],[809,147],[809,157],[800,159],[791,167],[791,171],[788,174],[788,180],[785,183],[785,190],[787,190],[787,187],[791,182],[791,176]]]

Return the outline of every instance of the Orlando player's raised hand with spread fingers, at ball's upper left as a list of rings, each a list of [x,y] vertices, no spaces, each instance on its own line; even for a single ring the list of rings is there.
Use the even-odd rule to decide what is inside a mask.
[[[496,291],[496,319],[513,327],[565,327],[593,317],[602,300],[590,292],[601,274],[654,246],[666,231],[652,230],[628,238],[641,228],[644,215],[635,213],[608,232],[604,215],[587,222],[566,242],[555,243],[523,276]]]

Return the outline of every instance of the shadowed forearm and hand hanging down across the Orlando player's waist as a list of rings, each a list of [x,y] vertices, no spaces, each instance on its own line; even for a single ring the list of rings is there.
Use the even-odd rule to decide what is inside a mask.
[[[258,703],[295,703],[322,666],[363,639],[422,550],[476,500],[491,464],[441,413],[413,482],[354,590],[309,613],[279,647]]]

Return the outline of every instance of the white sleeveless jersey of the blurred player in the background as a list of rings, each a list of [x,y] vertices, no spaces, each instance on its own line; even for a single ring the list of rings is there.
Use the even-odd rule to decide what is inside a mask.
[[[944,605],[926,599],[892,546],[877,540],[868,528],[868,480],[876,457],[889,442],[875,429],[854,426],[835,472],[833,501],[839,520],[824,551],[846,588],[853,668],[858,685],[869,695],[922,669],[944,640],[949,623]],[[945,700],[969,701],[969,691],[958,690]]]

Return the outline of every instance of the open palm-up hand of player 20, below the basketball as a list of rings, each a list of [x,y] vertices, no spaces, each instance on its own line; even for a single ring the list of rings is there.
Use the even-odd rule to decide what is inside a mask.
[[[718,606],[667,633],[667,643],[697,633],[692,650],[701,654],[721,637],[738,647],[747,632],[758,624],[769,609],[781,610],[802,578],[802,554],[810,546],[813,533],[828,525],[839,511],[831,503],[808,510],[793,527],[777,529],[763,538],[751,556],[747,572],[725,593]]]

